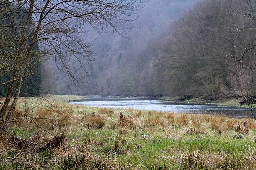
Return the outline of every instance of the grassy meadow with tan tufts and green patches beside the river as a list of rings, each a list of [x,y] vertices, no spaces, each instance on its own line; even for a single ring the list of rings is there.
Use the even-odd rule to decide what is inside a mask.
[[[0,169],[256,169],[253,119],[66,103],[79,99],[20,98]]]

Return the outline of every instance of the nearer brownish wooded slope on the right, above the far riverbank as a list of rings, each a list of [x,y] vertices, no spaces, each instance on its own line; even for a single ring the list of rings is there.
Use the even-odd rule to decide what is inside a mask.
[[[255,5],[255,1],[243,0],[202,1],[177,20],[161,57],[166,64],[161,71],[166,90],[174,95],[218,98],[252,88],[254,73],[244,68],[255,63],[255,53],[236,60],[255,44],[256,32],[243,30],[255,28],[254,19],[244,15],[244,10],[250,11],[246,7],[253,10]]]

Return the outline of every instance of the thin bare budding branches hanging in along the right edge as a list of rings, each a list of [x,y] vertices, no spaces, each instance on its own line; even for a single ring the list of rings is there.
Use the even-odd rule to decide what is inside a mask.
[[[243,22],[237,25],[237,30],[243,39],[242,48],[234,46],[234,50],[238,51],[232,55],[232,59],[236,66],[243,70],[244,87],[237,91],[240,97],[244,98],[243,103],[247,104],[251,109],[251,113],[256,120],[254,114],[254,103],[256,102],[256,84],[255,84],[255,69],[256,69],[256,1],[242,0],[239,7],[236,9],[237,17],[242,18]]]

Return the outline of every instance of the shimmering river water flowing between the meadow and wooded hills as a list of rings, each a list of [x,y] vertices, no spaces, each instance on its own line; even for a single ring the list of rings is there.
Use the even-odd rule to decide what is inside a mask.
[[[69,102],[94,107],[132,108],[163,112],[183,112],[196,114],[221,114],[229,117],[252,117],[251,110],[244,107],[220,106],[213,104],[191,104],[177,102],[163,102],[150,98],[112,98],[86,97],[80,101]]]

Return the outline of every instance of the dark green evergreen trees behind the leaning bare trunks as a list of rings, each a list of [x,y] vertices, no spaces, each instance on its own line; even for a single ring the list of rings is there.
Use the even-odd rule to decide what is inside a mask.
[[[3,7],[3,4],[0,6]],[[20,27],[26,24],[24,18],[28,17],[28,14],[24,13],[26,11],[25,8],[19,4],[11,5],[9,8],[15,9],[18,12],[10,15],[6,14],[4,10],[0,10],[0,82],[3,83],[12,80],[14,72],[18,74],[35,73],[24,78],[20,95],[38,96],[41,92],[41,60],[38,57],[40,47],[38,43],[34,43],[32,51],[37,51],[37,53],[31,52],[32,56],[28,57],[29,60],[26,60],[26,56],[22,56],[20,57],[21,59],[17,60],[19,45],[17,38],[22,36]],[[33,22],[30,25],[33,25]],[[28,29],[28,32],[28,35],[32,34],[32,30]],[[26,40],[26,49],[29,48],[30,41],[31,38]],[[24,70],[21,69],[23,66],[25,66]],[[0,86],[0,97],[6,96],[11,84]],[[17,87],[17,82],[14,83],[14,86]],[[12,96],[14,95],[14,91],[15,88],[12,89]]]

